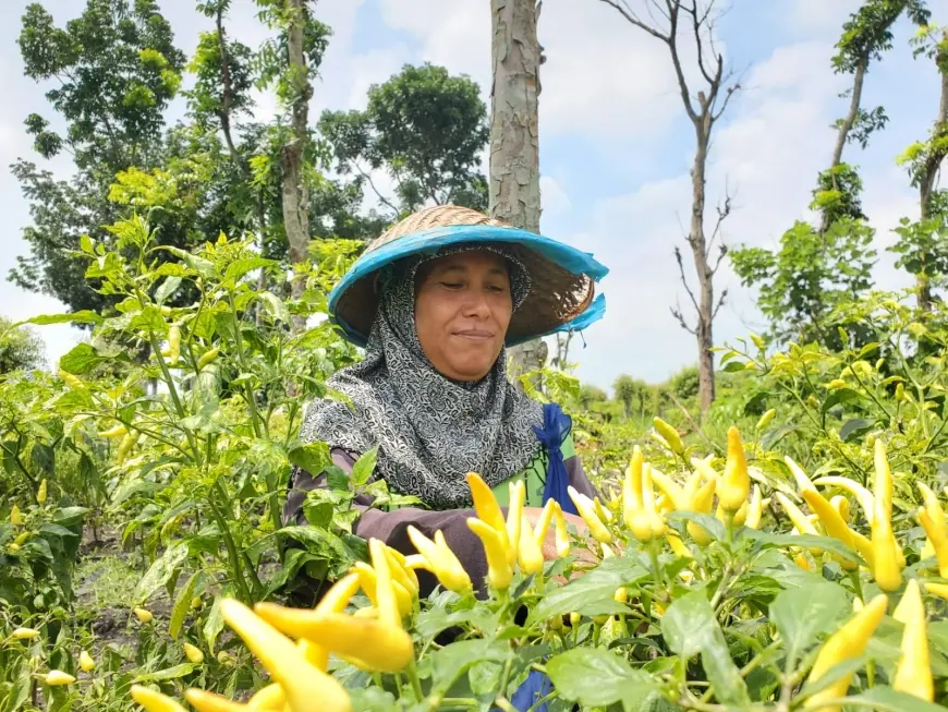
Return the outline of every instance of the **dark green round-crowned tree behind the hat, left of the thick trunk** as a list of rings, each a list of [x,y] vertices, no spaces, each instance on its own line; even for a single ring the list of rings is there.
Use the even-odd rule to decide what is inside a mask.
[[[466,75],[406,64],[369,88],[365,111],[325,111],[319,130],[339,172],[367,184],[396,219],[426,203],[486,209],[487,181],[477,167],[487,143],[486,113]],[[396,202],[376,189],[370,172],[378,169],[394,181]]]

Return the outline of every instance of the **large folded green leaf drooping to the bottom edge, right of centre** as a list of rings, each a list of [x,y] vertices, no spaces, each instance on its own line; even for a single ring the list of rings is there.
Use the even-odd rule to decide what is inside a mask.
[[[719,702],[750,704],[748,686],[731,660],[725,633],[705,591],[692,591],[676,600],[661,618],[661,635],[672,652],[685,659],[701,653],[702,666]]]

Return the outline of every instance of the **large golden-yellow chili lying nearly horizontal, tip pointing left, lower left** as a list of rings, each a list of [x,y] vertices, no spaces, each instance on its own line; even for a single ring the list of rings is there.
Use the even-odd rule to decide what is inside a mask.
[[[287,608],[276,603],[258,603],[254,611],[277,630],[315,642],[333,653],[355,657],[369,669],[398,673],[415,656],[411,635],[401,625],[386,623],[381,611],[378,618]],[[285,689],[283,680],[277,681]]]

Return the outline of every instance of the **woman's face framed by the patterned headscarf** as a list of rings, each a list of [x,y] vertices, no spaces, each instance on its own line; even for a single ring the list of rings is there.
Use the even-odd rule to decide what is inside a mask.
[[[500,255],[462,252],[418,270],[415,328],[422,350],[453,381],[479,381],[497,361],[513,313],[510,277]]]

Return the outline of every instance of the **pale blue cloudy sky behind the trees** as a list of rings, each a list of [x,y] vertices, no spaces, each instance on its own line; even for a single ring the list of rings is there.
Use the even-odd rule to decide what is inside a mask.
[[[4,167],[32,154],[23,119],[32,111],[51,114],[44,87],[22,76],[15,38],[26,4],[7,0],[0,7]],[[44,4],[62,23],[85,3]],[[190,0],[159,4],[178,44],[192,51],[206,20],[191,10]],[[838,95],[849,77],[832,74],[829,58],[842,22],[858,5],[856,0],[732,0],[719,46],[743,70],[743,88],[716,128],[708,182],[709,205],[725,184],[736,191],[737,209],[725,227],[729,244],[774,246],[793,220],[807,217],[810,191],[832,149],[829,124],[847,106]],[[929,7],[935,23],[948,23],[948,0],[929,0]],[[372,83],[384,82],[405,62],[425,60],[470,74],[488,99],[488,0],[320,0],[317,14],[335,37],[316,87],[314,117],[324,108],[361,108]],[[230,27],[252,46],[266,37],[250,0],[234,0]],[[908,23],[900,24],[892,51],[867,77],[865,106],[884,105],[888,128],[867,150],[849,146],[844,155],[862,171],[864,209],[878,230],[880,287],[908,283],[883,250],[899,218],[917,213],[915,194],[894,157],[926,135],[938,105],[938,77],[928,62],[912,58],[912,33]],[[677,244],[688,254],[682,225],[690,207],[693,136],[667,50],[598,0],[545,0],[539,34],[547,56],[539,106],[542,228],[593,252],[611,269],[601,282],[607,315],[587,329],[586,347],[578,346],[571,357],[584,381],[603,387],[620,373],[661,381],[695,361],[693,337],[669,314],[676,300],[688,303],[671,251]],[[272,97],[258,99],[257,114],[270,116]],[[52,169],[66,171],[68,162],[56,161]],[[387,190],[386,177],[376,178]],[[0,239],[5,276],[14,256],[25,251],[20,233],[29,219],[7,170],[0,171],[0,214],[10,228]],[[754,295],[726,267],[718,285],[730,298],[716,323],[716,342],[759,329]],[[60,309],[52,299],[0,282],[0,314],[24,318]],[[41,327],[40,334],[51,363],[82,337],[64,326]]]

